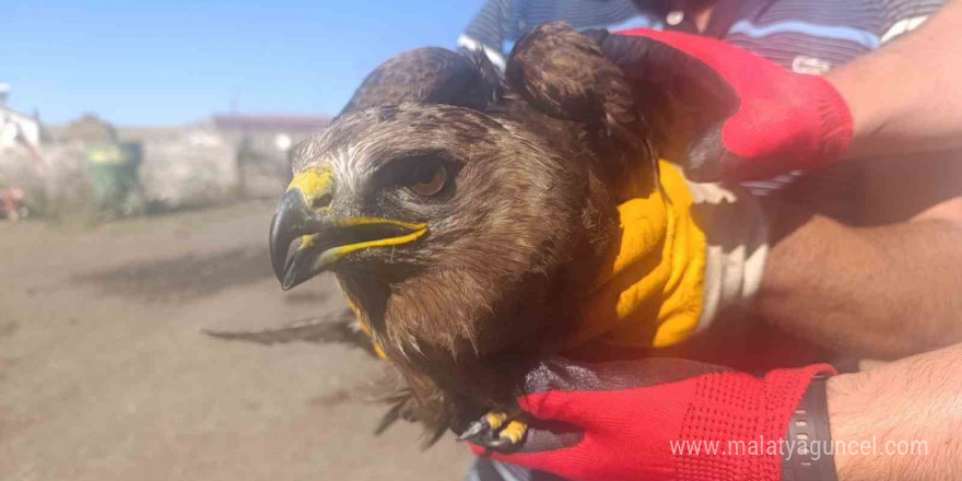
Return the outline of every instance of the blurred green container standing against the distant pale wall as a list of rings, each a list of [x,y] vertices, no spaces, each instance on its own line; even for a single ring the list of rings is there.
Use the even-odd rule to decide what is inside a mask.
[[[112,143],[86,149],[86,165],[102,209],[117,209],[138,187],[143,159],[140,143]]]

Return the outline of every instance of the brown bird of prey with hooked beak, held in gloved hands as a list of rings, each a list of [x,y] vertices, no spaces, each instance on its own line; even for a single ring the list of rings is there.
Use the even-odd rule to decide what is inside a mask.
[[[658,181],[659,131],[602,54],[606,34],[538,27],[503,75],[483,55],[400,54],[295,149],[274,271],[284,290],[337,277],[407,382],[392,418],[516,445],[511,373],[583,330],[622,242],[619,204],[676,201]]]

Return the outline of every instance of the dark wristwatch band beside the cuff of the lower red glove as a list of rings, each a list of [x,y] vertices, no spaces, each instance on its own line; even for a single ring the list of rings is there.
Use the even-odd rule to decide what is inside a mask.
[[[782,460],[783,481],[837,481],[834,446],[829,431],[829,376],[812,378],[788,421]]]

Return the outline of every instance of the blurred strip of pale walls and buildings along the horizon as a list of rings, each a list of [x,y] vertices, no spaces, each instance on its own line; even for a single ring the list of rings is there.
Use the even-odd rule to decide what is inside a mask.
[[[330,121],[233,113],[125,127],[85,113],[42,125],[37,115],[8,108],[10,93],[0,84],[0,197],[15,189],[17,207],[40,215],[129,215],[273,198],[290,179],[291,149]]]

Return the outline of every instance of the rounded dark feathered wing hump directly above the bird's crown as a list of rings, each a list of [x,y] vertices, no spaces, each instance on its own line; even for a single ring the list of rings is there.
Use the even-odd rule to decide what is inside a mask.
[[[497,69],[483,54],[427,47],[401,52],[371,72],[341,115],[402,102],[483,110],[501,94]]]

